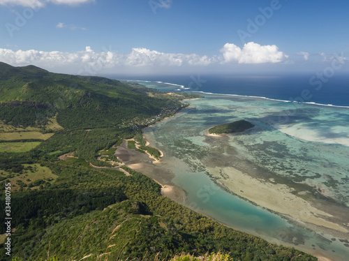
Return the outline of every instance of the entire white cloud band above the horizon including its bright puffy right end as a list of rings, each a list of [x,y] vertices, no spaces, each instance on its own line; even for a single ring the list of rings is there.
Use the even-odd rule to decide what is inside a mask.
[[[64,23],[57,24],[63,28]],[[121,54],[103,48],[103,52],[95,52],[90,46],[77,52],[43,52],[38,50],[10,50],[0,48],[0,61],[13,66],[34,64],[41,68],[75,68],[79,74],[88,71],[89,75],[103,68],[173,68],[188,66],[209,66],[212,64],[239,64],[277,63],[287,56],[279,52],[275,45],[261,46],[248,43],[241,49],[234,44],[227,43],[221,52],[222,55],[208,57],[198,54],[165,53],[147,48],[133,48],[129,54]]]

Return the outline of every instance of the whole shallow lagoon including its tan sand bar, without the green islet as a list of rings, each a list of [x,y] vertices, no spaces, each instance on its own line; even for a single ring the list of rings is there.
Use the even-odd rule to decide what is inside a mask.
[[[146,155],[141,162],[140,155],[128,155],[136,170],[173,186],[173,200],[225,225],[346,260],[348,109],[221,95],[187,102],[191,107],[144,130],[164,156],[155,165]],[[239,119],[255,127],[205,135],[212,126]],[[325,142],[306,137],[314,133]]]

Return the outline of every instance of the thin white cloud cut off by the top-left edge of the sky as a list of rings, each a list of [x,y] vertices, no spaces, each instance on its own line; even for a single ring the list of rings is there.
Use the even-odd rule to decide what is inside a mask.
[[[82,3],[88,3],[94,0],[0,0],[2,6],[24,6],[31,8],[40,8],[46,3],[65,4],[68,6],[77,6]]]

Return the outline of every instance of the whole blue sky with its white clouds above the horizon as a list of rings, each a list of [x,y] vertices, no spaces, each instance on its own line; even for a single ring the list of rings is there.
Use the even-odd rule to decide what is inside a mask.
[[[348,14],[348,1],[0,0],[0,61],[85,75],[346,71]]]

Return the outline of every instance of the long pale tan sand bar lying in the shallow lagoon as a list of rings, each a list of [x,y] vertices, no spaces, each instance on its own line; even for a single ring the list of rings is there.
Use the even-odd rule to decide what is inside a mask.
[[[283,184],[273,184],[248,176],[233,167],[224,167],[228,178],[222,179],[221,167],[208,168],[219,185],[256,204],[288,216],[296,221],[312,223],[332,230],[349,232],[347,228],[325,220],[332,217],[325,211],[316,209],[309,202],[292,194],[292,188]]]

